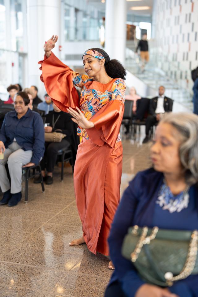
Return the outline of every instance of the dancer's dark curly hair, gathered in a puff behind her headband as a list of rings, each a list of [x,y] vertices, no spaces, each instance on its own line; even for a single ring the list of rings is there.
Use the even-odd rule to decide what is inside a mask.
[[[99,49],[97,47],[92,49],[97,50],[97,52],[101,53],[105,58],[105,70],[110,77],[121,78],[122,80],[126,80],[125,78],[125,76],[127,75],[126,69],[118,60],[116,59],[110,60],[109,55],[105,52],[104,49]]]

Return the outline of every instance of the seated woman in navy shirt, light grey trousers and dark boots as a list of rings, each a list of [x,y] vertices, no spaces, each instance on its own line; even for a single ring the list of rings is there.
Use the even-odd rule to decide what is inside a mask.
[[[38,164],[43,157],[44,126],[41,116],[28,108],[28,94],[17,93],[14,101],[15,111],[5,115],[0,131],[0,187],[3,198],[0,205],[15,206],[21,200],[21,167]],[[5,165],[11,178],[11,186]]]

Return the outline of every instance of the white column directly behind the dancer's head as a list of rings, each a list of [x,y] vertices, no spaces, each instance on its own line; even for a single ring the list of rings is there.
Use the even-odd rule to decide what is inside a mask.
[[[111,59],[118,59],[125,65],[126,51],[126,0],[106,0],[105,51]]]

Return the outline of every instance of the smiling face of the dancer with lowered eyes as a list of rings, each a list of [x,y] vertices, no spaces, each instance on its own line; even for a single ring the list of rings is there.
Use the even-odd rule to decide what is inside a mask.
[[[104,67],[105,59],[97,59],[91,55],[83,56],[83,65],[84,71],[88,76],[93,77],[101,71],[101,68]]]

